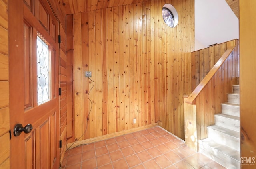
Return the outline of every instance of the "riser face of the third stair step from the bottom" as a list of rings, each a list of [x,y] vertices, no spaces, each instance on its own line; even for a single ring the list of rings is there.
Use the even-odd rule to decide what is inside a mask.
[[[222,127],[240,132],[240,121],[233,120],[230,118],[224,118],[216,115],[214,116],[214,118],[215,118],[215,124],[217,126],[222,126]]]

